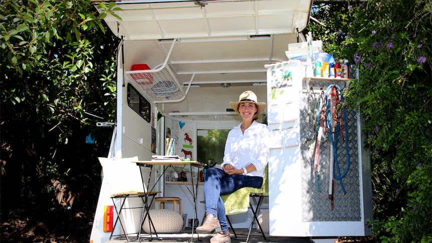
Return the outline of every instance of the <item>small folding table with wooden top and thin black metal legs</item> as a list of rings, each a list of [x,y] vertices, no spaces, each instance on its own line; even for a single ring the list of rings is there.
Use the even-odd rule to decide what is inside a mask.
[[[199,174],[199,169],[203,168],[205,166],[204,163],[201,163],[201,162],[198,162],[198,161],[194,161],[194,160],[180,160],[180,161],[178,161],[178,160],[169,160],[169,159],[167,159],[167,160],[158,159],[158,160],[131,161],[131,162],[132,163],[136,163],[139,166],[148,166],[148,167],[150,167],[150,173],[149,173],[149,176],[148,176],[147,185],[150,184],[150,177],[151,177],[151,171],[153,169],[153,165],[163,165],[163,166],[166,166],[165,169],[160,174],[160,176],[157,178],[155,185],[150,190],[148,190],[149,192],[151,192],[151,191],[154,190],[156,184],[159,182],[159,180],[161,178],[165,178],[164,174],[165,174],[165,171],[166,171],[167,168],[169,168],[169,167],[174,168],[173,165],[183,165],[183,166],[189,165],[190,166],[190,177],[191,178],[193,178],[192,177],[192,166],[193,167],[198,167],[198,174]],[[175,168],[174,168],[174,170],[175,170]],[[178,172],[176,171],[176,173],[178,173]],[[141,174],[141,178],[143,180],[143,184],[145,185],[144,178],[142,177],[142,174]],[[186,188],[189,190],[190,194],[193,197],[193,204],[194,204],[193,219],[195,219],[196,216],[197,216],[197,212],[196,212],[196,199],[197,199],[197,195],[198,195],[198,181],[193,181],[193,179],[192,179],[192,181],[183,181],[183,184],[186,185],[186,183],[187,184],[190,184],[190,183],[192,184],[192,191],[190,191],[189,187],[186,186]],[[147,188],[147,187],[144,186],[144,188]],[[147,202],[147,200],[146,200],[146,202]],[[147,208],[148,208],[148,205],[147,205]],[[148,210],[147,210],[146,215],[142,219],[141,228],[142,228],[142,224],[144,223],[144,220],[145,220],[145,218],[147,216],[149,217],[149,222],[151,222],[150,214],[148,214]],[[192,225],[194,225],[194,222],[192,222]],[[140,230],[141,230],[141,228],[140,228]],[[153,227],[153,229],[154,229],[154,227]],[[151,226],[150,226],[150,234],[151,234]],[[159,240],[162,239],[161,237],[157,236],[157,232],[155,232],[155,234],[156,234],[156,237]],[[198,240],[199,240],[199,235],[198,235]],[[193,226],[192,226],[192,238],[191,238],[191,241],[193,242]],[[138,242],[139,242],[139,236],[138,236]]]

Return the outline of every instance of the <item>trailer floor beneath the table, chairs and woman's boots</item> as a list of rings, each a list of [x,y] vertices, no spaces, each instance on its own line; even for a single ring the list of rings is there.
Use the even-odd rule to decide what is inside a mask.
[[[249,229],[236,229],[237,238],[234,233],[230,230],[231,233],[231,243],[240,243],[246,242],[248,238]],[[258,232],[256,229],[252,230],[251,236],[249,237],[249,242],[251,243],[313,243],[313,242],[331,242],[334,243],[337,238],[328,238],[328,239],[311,239],[310,237],[288,237],[288,236],[270,236],[268,233],[265,233],[266,239]],[[141,234],[139,242],[178,242],[178,243],[207,243],[210,242],[210,238],[213,234],[192,234],[190,232],[190,228],[186,228],[183,232],[180,233],[158,233],[158,237],[155,234],[150,236],[149,234]],[[113,238],[111,240],[105,241],[106,243],[125,243],[125,242],[133,242],[139,243],[138,237],[136,235],[128,235],[129,241],[126,240],[126,237],[120,236],[117,238]]]

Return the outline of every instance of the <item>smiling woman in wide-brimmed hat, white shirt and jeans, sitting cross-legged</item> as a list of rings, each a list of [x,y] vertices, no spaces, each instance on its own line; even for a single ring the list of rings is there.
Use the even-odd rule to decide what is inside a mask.
[[[230,243],[225,205],[221,195],[228,195],[243,187],[261,188],[269,159],[270,132],[265,124],[256,122],[266,109],[266,103],[257,102],[252,91],[240,95],[239,102],[230,102],[240,113],[242,123],[228,134],[224,162],[221,168],[209,168],[204,180],[205,212],[207,214],[197,233],[216,233],[211,243]]]

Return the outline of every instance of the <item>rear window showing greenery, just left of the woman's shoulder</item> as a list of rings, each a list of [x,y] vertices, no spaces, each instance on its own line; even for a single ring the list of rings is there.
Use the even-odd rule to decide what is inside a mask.
[[[197,129],[196,160],[202,163],[216,162],[222,164],[224,160],[225,142],[231,129]]]

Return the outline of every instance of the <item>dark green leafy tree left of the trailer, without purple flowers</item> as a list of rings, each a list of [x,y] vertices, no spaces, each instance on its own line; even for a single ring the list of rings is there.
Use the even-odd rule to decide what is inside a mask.
[[[76,195],[72,210],[62,214],[65,227],[75,209],[94,211],[97,157],[107,153],[112,133],[96,123],[115,122],[119,42],[101,21],[115,3],[99,7],[100,15],[87,0],[2,2],[2,222],[46,222],[47,214],[62,212],[52,202],[51,179]],[[86,143],[89,134],[94,144]]]

